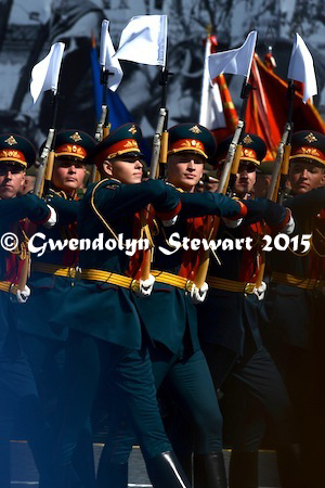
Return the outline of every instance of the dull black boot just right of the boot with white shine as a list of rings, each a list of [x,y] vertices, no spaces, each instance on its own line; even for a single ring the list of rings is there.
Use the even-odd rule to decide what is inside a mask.
[[[223,452],[194,454],[194,488],[226,488]]]

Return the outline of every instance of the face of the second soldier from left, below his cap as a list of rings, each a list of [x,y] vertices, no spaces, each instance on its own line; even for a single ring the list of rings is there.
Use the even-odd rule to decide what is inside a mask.
[[[82,187],[86,167],[82,160],[56,158],[53,168],[52,183],[58,190],[73,194]]]

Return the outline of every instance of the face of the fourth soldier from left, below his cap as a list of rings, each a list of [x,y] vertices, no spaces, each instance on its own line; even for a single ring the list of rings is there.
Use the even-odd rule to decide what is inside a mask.
[[[205,158],[200,154],[180,152],[170,154],[167,164],[167,180],[178,188],[193,192],[204,170]]]

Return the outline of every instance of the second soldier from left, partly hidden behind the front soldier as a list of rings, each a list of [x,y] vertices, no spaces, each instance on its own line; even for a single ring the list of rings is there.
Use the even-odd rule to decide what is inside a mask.
[[[32,226],[30,233],[41,232],[32,244],[41,246],[49,240],[56,242],[77,237],[77,214],[79,202],[77,190],[82,185],[87,154],[95,141],[88,133],[75,129],[61,130],[55,138],[55,160],[51,187],[46,201],[57,213],[57,224],[52,229]],[[42,147],[41,147],[42,151]],[[50,319],[60,307],[66,292],[74,285],[78,251],[69,248],[47,249],[41,256],[32,255],[30,279],[31,298],[18,313],[17,328],[24,351],[28,357],[44,414],[50,423],[56,408],[58,388],[65,361],[67,324],[53,328]],[[78,445],[74,465],[86,486],[94,485],[94,465],[90,427],[84,431]]]

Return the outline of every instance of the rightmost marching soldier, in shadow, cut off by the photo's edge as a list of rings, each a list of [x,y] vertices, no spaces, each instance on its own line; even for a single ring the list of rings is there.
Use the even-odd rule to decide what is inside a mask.
[[[287,251],[272,254],[271,283],[264,304],[268,345],[283,374],[294,404],[299,437],[304,447],[310,486],[324,481],[324,320],[325,300],[325,137],[296,132],[289,168],[291,192],[286,205],[296,221]],[[309,239],[309,235],[311,236]],[[306,237],[307,236],[307,237]],[[303,242],[308,247],[302,245]],[[312,451],[312,453],[311,453]]]

